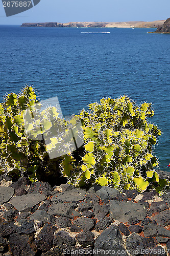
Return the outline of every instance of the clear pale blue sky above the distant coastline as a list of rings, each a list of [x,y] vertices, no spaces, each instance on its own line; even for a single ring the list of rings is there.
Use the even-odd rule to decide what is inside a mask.
[[[5,1],[5,0],[4,0]],[[7,0],[8,1],[8,0]],[[0,24],[25,22],[128,22],[170,17],[170,0],[41,0],[32,9],[6,17],[0,0]]]

